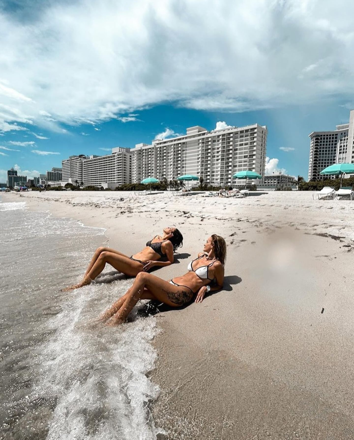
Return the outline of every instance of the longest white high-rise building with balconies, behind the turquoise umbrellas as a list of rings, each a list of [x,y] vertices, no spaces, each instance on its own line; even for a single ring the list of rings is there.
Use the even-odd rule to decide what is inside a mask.
[[[244,184],[235,182],[232,175],[250,170],[264,176],[266,138],[266,127],[258,124],[211,132],[195,126],[187,128],[185,136],[138,144],[132,149],[133,182],[192,174],[211,185]]]

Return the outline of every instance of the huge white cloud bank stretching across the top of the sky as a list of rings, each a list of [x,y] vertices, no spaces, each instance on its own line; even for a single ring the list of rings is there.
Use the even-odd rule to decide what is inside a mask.
[[[0,131],[129,122],[166,102],[246,111],[354,94],[349,0],[46,3],[34,23],[0,12]]]

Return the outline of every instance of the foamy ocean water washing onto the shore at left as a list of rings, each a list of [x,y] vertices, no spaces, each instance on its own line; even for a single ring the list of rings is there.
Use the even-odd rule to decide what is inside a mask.
[[[132,284],[106,268],[74,292],[103,229],[0,199],[0,439],[156,439],[146,373],[155,318],[96,318]],[[135,312],[136,313],[136,312]]]

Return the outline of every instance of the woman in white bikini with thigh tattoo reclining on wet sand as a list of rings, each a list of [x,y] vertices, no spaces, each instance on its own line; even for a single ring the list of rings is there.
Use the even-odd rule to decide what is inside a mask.
[[[206,240],[203,252],[188,264],[188,272],[171,281],[140,272],[133,286],[102,316],[111,318],[110,325],[123,323],[139,300],[158,300],[171,307],[179,307],[196,294],[195,302],[202,302],[206,292],[220,290],[224,283],[226,243],[213,234]],[[213,286],[210,284],[213,283]]]

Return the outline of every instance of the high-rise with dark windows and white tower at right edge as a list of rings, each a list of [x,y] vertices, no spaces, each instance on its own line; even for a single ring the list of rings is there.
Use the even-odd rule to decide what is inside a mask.
[[[308,180],[328,179],[320,172],[336,163],[354,163],[354,110],[350,111],[349,124],[337,125],[332,132],[312,132]]]

